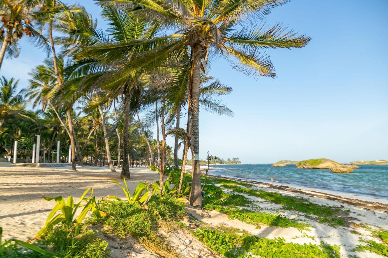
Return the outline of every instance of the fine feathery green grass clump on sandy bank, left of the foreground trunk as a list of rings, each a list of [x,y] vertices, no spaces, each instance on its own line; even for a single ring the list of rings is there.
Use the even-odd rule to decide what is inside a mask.
[[[94,215],[90,220],[93,224],[102,223],[104,232],[120,238],[132,236],[145,248],[161,256],[168,253],[173,256],[175,253],[156,232],[161,220],[179,220],[184,216],[184,205],[175,199],[152,196],[144,207],[137,203],[101,201],[99,209],[114,217]]]

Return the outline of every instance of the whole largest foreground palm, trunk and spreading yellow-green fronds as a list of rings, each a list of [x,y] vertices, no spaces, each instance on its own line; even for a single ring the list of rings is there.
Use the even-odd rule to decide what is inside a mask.
[[[310,41],[310,37],[297,35],[293,30],[287,30],[282,24],[268,27],[265,24],[249,26],[246,21],[255,24],[255,18],[262,19],[272,7],[286,2],[285,0],[110,0],[126,8],[137,5],[148,9],[150,19],[165,17],[167,27],[176,26],[176,33],[144,40],[131,41],[127,44],[106,48],[108,59],[115,59],[120,53],[134,46],[154,46],[148,53],[142,53],[136,60],[128,60],[107,79],[107,85],[125,80],[130,74],[143,69],[150,69],[176,58],[182,50],[189,50],[191,62],[191,78],[189,83],[191,148],[194,156],[192,187],[190,202],[193,206],[202,205],[201,172],[199,169],[199,95],[200,74],[205,70],[209,58],[222,55],[234,64],[234,68],[248,76],[276,77],[274,66],[269,57],[260,52],[265,48],[301,48]],[[241,28],[237,31],[237,28]],[[152,58],[150,58],[152,56]],[[111,60],[112,62],[114,60]]]

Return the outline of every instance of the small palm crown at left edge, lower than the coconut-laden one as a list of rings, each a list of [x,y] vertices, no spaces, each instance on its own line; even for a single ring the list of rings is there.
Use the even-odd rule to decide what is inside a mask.
[[[5,121],[10,118],[28,117],[25,107],[24,96],[27,90],[17,91],[19,80],[11,78],[7,80],[4,76],[0,78],[0,129]]]

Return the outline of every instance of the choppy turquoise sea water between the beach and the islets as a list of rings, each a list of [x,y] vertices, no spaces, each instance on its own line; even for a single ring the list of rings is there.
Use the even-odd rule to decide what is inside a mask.
[[[295,165],[271,167],[271,164],[243,164],[211,167],[216,168],[209,170],[211,175],[258,182],[271,182],[271,177],[274,177],[275,184],[312,187],[388,200],[388,166],[361,165],[350,174],[337,174],[326,169],[298,169]]]

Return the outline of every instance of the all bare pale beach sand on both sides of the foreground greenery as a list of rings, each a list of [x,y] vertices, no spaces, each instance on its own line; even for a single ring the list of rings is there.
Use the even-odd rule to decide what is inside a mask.
[[[117,195],[123,198],[120,187],[109,182],[118,180],[120,174],[110,172],[107,167],[77,167],[78,171],[69,171],[69,167],[56,168],[31,168],[12,167],[2,164],[0,166],[0,225],[3,227],[3,237],[9,239],[16,237],[26,240],[35,236],[36,232],[44,225],[45,218],[54,206],[54,201],[45,201],[44,196],[80,196],[85,189],[93,187],[94,195],[102,198],[107,194]],[[140,181],[156,181],[158,173],[146,168],[131,169],[132,179],[128,181],[130,191]],[[120,182],[120,180],[118,180]],[[248,182],[248,181],[246,181]],[[370,229],[382,228],[388,230],[387,205],[361,200],[344,198],[327,193],[319,193],[287,186],[277,186],[266,183],[249,182],[255,189],[281,193],[288,196],[300,196],[308,198],[310,202],[319,205],[338,206],[350,210],[348,219],[357,225],[368,225]],[[230,191],[225,189],[225,191]],[[279,213],[287,218],[304,220],[312,225],[308,230],[300,230],[293,227],[283,228],[246,224],[237,219],[230,220],[227,215],[215,211],[204,212],[194,208],[187,208],[192,216],[201,222],[213,226],[229,226],[259,236],[273,239],[283,237],[286,242],[298,244],[327,244],[340,246],[342,257],[357,255],[359,257],[383,257],[369,252],[352,251],[360,238],[376,240],[371,236],[371,231],[361,226],[331,227],[317,222],[305,214],[295,211],[283,210],[281,205],[246,195],[260,206],[261,212]],[[363,224],[361,224],[363,223]],[[179,239],[179,237],[177,238]],[[193,241],[193,240],[191,240]],[[125,256],[123,256],[125,257]],[[149,257],[149,256],[146,256]],[[151,256],[150,256],[151,257]],[[204,256],[206,257],[206,256]]]

